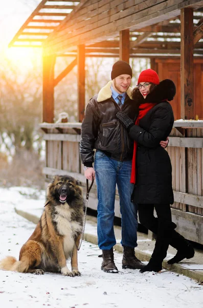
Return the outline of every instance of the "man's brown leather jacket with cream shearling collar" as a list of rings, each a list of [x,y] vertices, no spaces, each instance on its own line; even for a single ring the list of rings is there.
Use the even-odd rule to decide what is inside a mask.
[[[85,166],[92,166],[94,149],[101,150],[118,161],[132,159],[133,142],[118,121],[116,113],[122,110],[134,120],[138,115],[138,104],[132,100],[132,89],[129,88],[120,109],[111,97],[111,84],[112,81],[108,82],[99,94],[89,101],[85,111],[80,141],[80,158]]]

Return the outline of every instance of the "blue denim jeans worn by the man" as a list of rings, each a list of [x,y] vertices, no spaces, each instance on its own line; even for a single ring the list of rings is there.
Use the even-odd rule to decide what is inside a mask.
[[[116,161],[102,151],[95,153],[95,172],[98,194],[97,234],[100,249],[108,250],[116,244],[114,234],[114,208],[116,184],[119,190],[122,246],[137,247],[138,208],[130,201],[131,161]]]

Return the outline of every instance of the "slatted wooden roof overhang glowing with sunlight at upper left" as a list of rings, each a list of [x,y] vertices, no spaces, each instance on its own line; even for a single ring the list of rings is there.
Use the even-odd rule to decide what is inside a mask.
[[[194,8],[194,31],[202,31],[203,1],[198,0],[42,0],[10,46],[76,55],[77,46],[84,44],[86,56],[113,57],[119,56],[119,32],[129,29],[131,57],[179,56],[179,15],[185,7]],[[202,55],[200,40],[194,56]]]

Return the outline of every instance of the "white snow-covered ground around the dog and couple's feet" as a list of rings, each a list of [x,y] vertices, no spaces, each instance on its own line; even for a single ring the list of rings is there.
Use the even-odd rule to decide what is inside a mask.
[[[35,204],[41,211],[44,192],[23,187],[0,188],[0,259],[18,258],[35,225],[18,216],[14,207]],[[37,199],[38,198],[38,199]],[[87,226],[88,227],[88,226]],[[93,230],[96,232],[96,230]],[[203,285],[172,272],[145,273],[122,269],[122,254],[115,252],[119,274],[100,269],[97,246],[83,242],[79,251],[81,277],[41,276],[0,271],[0,303],[4,308],[185,308],[203,307]],[[69,266],[69,264],[68,264]]]

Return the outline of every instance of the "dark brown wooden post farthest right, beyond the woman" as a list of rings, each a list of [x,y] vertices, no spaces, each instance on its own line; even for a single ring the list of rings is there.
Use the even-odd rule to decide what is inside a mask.
[[[194,119],[193,9],[181,9],[181,118]]]

